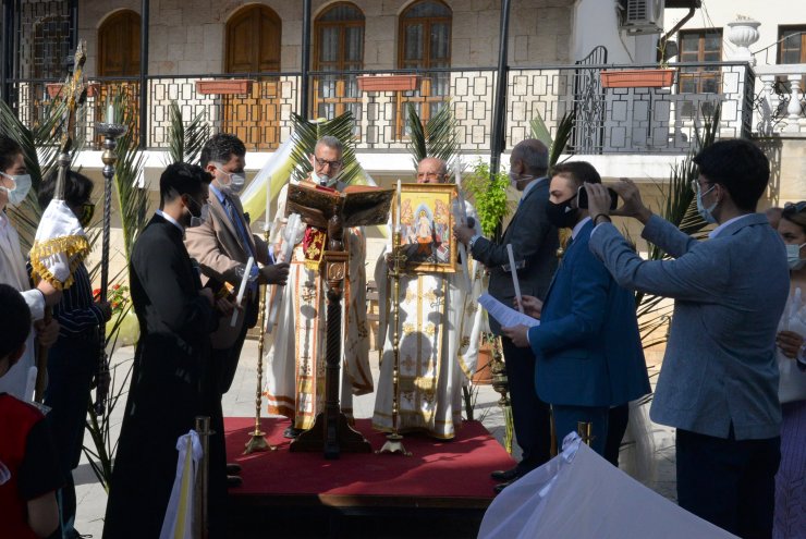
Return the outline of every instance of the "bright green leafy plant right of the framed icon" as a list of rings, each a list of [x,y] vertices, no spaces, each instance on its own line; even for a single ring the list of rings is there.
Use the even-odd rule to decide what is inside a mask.
[[[509,185],[510,177],[505,172],[492,175],[490,166],[484,161],[477,161],[473,166],[473,174],[462,183],[473,196],[481,232],[487,237],[494,235],[496,229],[512,210],[512,204],[506,198]]]

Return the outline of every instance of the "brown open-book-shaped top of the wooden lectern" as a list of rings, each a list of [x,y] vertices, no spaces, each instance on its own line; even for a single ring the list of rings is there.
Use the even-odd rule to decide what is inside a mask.
[[[394,189],[350,185],[343,192],[301,182],[289,185],[285,216],[300,213],[312,226],[326,229],[334,215],[343,226],[368,226],[389,222]]]

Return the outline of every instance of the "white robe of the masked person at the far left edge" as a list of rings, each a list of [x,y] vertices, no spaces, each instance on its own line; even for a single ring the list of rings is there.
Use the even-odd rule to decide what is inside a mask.
[[[45,316],[45,297],[38,290],[29,290],[28,274],[25,270],[25,260],[20,250],[20,236],[9,221],[4,211],[0,211],[0,283],[19,290],[30,309],[32,320],[40,320]],[[20,360],[0,378],[0,392],[5,392],[22,400],[29,400],[25,394],[28,370],[36,363],[34,346],[34,329],[25,341],[25,353]]]

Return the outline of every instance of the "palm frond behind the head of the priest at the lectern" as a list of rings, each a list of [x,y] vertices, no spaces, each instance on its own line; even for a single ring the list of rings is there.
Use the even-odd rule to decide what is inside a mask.
[[[308,177],[313,170],[310,156],[314,154],[316,143],[326,135],[338,138],[344,146],[342,152],[344,164],[339,179],[344,183],[352,183],[361,176],[361,166],[355,159],[355,120],[350,111],[332,120],[313,122],[292,113],[292,120],[294,133],[291,136],[294,147],[291,150],[291,159],[294,162],[295,180],[301,181]]]

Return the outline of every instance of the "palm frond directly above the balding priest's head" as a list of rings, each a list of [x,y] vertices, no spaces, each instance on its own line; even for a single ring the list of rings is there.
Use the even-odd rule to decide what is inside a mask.
[[[425,126],[413,103],[407,103],[408,151],[412,152],[415,168],[426,157],[436,157],[445,162],[459,152],[456,120],[450,103],[439,108]]]

